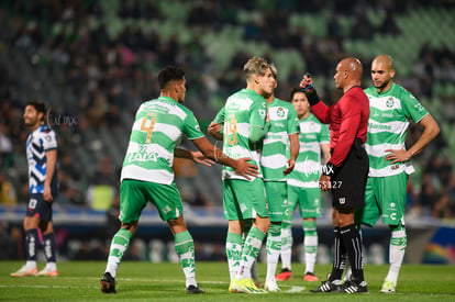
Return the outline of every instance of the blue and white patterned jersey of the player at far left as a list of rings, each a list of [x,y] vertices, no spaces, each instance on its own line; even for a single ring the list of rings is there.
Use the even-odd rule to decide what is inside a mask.
[[[41,124],[26,138],[26,158],[29,160],[29,193],[43,193],[46,179],[46,152],[57,148],[55,132]],[[51,182],[53,195],[58,193],[57,167]]]

